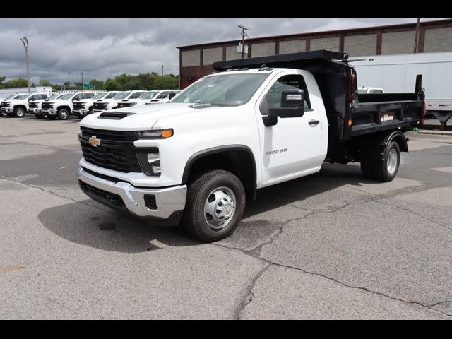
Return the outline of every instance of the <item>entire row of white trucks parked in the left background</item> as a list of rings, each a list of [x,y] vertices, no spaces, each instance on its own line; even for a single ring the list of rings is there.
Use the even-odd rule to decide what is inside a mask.
[[[0,102],[1,115],[66,120],[71,115],[83,119],[88,114],[121,107],[153,105],[168,102],[179,90],[72,91],[66,93],[16,93]]]

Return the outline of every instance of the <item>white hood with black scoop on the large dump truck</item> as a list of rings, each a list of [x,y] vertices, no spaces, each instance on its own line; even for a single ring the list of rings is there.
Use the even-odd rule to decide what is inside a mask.
[[[81,121],[81,126],[95,129],[113,129],[116,131],[143,131],[151,129],[160,119],[174,118],[179,115],[199,114],[207,111],[223,111],[230,107],[218,107],[208,104],[176,104],[143,105],[107,111],[109,114],[124,114],[121,119],[102,119],[102,113],[90,114]],[[213,113],[213,112],[211,112]]]

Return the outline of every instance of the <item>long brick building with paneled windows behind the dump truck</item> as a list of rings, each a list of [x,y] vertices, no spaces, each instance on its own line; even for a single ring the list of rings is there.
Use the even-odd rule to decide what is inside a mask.
[[[302,34],[256,37],[246,40],[245,57],[329,49],[347,52],[350,56],[375,54],[408,54],[413,52],[416,23],[379,27],[330,30]],[[177,47],[181,88],[213,71],[215,61],[239,59],[239,39],[208,44]],[[420,23],[418,52],[452,51],[452,19]]]

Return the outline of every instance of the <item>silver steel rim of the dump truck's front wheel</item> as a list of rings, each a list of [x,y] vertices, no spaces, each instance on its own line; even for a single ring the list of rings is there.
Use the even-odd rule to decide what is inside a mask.
[[[221,230],[234,218],[236,206],[231,189],[224,186],[213,189],[204,202],[204,220],[213,230]]]

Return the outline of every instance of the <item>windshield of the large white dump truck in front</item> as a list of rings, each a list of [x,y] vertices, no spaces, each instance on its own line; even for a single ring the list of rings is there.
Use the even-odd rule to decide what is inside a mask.
[[[171,102],[239,106],[248,102],[268,77],[261,74],[221,74],[207,76],[174,97]]]

